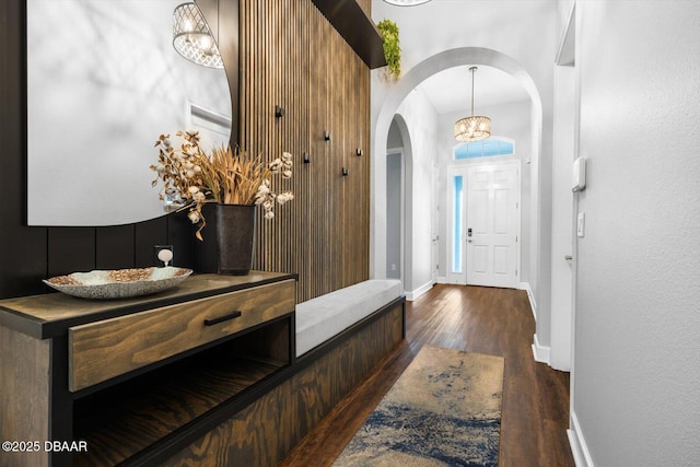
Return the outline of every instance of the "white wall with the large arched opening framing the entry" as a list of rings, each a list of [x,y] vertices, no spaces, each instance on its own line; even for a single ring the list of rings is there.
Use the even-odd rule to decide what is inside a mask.
[[[551,0],[443,0],[400,8],[374,0],[372,16],[375,22],[387,17],[397,23],[404,75],[398,82],[388,82],[382,70],[372,73],[371,275],[384,277],[386,273],[382,247],[386,237],[385,148],[396,108],[416,85],[444,69],[469,63],[499,68],[518,79],[533,97],[533,244],[529,252],[534,266],[528,279],[538,303],[537,334],[541,334],[540,341],[548,345],[557,3]],[[430,246],[425,248],[429,250]]]

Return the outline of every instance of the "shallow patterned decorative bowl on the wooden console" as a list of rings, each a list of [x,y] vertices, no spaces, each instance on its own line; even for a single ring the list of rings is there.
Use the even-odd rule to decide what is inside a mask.
[[[59,292],[81,299],[127,299],[170,289],[187,279],[191,273],[191,269],[172,266],[110,271],[94,270],[57,276],[45,279],[44,283]]]

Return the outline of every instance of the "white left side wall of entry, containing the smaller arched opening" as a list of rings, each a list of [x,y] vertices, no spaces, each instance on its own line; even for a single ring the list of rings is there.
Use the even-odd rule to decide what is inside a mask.
[[[432,285],[431,215],[435,205],[431,190],[431,177],[438,154],[438,114],[420,90],[410,93],[397,112],[406,124],[410,150],[405,152],[406,190],[410,202],[406,205],[406,271],[404,289],[409,300],[418,297]],[[408,147],[406,136],[404,148]],[[408,161],[410,159],[410,161]]]

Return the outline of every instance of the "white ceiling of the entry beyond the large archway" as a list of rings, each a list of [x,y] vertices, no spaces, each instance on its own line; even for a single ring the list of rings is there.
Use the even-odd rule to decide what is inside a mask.
[[[471,107],[470,66],[455,67],[433,74],[420,89],[435,107],[438,114],[467,112]],[[512,75],[498,68],[479,66],[475,73],[474,113],[490,106],[527,100],[523,85]]]

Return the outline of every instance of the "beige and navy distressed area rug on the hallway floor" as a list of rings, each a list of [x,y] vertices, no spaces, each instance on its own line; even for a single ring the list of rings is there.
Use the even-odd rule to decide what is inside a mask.
[[[503,359],[423,347],[334,466],[498,466]]]

